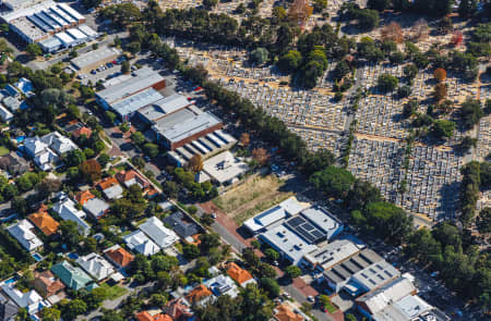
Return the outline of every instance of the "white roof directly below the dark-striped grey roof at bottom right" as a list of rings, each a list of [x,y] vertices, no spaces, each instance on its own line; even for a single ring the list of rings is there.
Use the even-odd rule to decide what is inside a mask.
[[[358,303],[363,303],[372,314],[383,310],[392,303],[416,293],[416,287],[406,277],[399,277],[393,282],[358,298]]]

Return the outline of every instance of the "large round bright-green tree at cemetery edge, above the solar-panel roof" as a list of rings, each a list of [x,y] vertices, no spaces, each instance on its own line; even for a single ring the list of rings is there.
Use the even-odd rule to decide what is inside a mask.
[[[328,196],[344,198],[355,183],[355,177],[349,171],[331,165],[315,172],[310,177],[310,182]]]

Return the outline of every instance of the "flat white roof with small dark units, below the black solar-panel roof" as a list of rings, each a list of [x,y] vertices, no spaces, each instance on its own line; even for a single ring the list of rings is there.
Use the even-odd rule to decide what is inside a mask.
[[[288,257],[294,264],[297,264],[304,254],[316,248],[314,245],[307,244],[283,224],[264,232],[260,237]]]

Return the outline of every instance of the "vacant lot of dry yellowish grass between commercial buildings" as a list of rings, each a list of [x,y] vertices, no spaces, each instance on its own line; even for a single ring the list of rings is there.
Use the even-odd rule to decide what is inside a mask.
[[[280,190],[285,183],[274,175],[253,176],[218,196],[213,202],[240,225],[247,219],[292,196]]]

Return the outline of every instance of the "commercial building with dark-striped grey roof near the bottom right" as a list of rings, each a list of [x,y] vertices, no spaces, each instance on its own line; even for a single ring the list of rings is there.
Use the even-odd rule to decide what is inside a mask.
[[[398,276],[400,272],[371,249],[363,249],[323,273],[323,280],[334,292],[345,291],[352,297]]]

